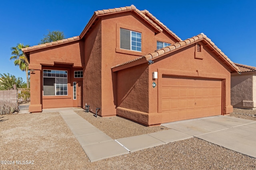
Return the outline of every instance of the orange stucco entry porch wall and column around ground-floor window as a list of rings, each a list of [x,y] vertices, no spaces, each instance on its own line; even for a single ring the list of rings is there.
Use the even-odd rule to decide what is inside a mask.
[[[82,70],[84,66],[82,45],[83,42],[74,41],[30,51],[29,69],[35,70],[30,74],[30,112],[40,112],[42,108],[77,106],[73,104],[70,70]],[[68,70],[68,96],[43,96],[43,69]]]

